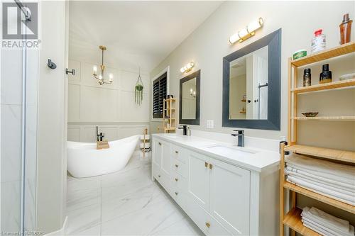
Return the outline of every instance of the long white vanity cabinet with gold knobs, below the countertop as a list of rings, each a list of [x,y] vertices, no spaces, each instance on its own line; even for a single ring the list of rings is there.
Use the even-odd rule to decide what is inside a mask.
[[[277,166],[256,172],[153,137],[152,176],[205,235],[278,234]]]

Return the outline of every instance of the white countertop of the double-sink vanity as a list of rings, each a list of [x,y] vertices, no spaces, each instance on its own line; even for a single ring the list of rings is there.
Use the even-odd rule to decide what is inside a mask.
[[[153,138],[157,137],[175,145],[186,147],[194,152],[200,152],[209,157],[256,172],[263,172],[270,167],[275,167],[280,164],[280,154],[269,150],[258,149],[255,147],[237,147],[236,145],[231,145],[231,143],[209,140],[197,136],[182,136],[176,134],[153,134],[152,136]],[[219,151],[219,147],[215,149],[210,148],[215,146],[222,146],[222,149],[223,147],[227,147],[227,151],[221,152]],[[231,149],[231,152],[228,152],[229,149]],[[236,154],[233,153],[233,150],[241,150],[247,153]]]

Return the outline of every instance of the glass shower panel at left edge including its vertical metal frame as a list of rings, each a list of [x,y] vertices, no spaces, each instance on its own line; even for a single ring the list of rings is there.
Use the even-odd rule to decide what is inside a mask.
[[[38,50],[1,48],[1,233],[35,230]]]

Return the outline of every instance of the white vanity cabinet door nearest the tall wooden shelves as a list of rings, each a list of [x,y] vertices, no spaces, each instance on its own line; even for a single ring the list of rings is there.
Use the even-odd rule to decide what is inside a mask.
[[[210,213],[232,235],[249,235],[250,172],[211,159]]]

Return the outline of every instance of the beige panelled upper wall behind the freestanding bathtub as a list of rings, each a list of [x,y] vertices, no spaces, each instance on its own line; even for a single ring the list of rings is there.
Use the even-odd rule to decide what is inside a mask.
[[[134,101],[138,71],[106,67],[106,76],[114,74],[114,82],[99,85],[92,76],[93,66],[69,61],[75,75],[70,74],[68,79],[68,123],[148,123],[151,86],[148,74],[141,74],[144,90],[139,106]]]

